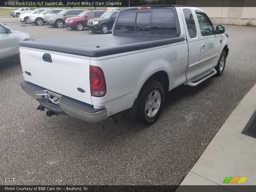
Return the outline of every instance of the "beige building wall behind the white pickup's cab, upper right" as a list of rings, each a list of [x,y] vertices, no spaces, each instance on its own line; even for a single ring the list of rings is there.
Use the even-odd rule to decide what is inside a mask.
[[[213,23],[256,25],[256,0],[177,0],[177,4],[204,10]]]

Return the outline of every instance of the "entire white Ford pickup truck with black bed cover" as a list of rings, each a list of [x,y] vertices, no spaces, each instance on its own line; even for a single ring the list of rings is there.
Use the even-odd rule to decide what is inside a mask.
[[[201,9],[139,6],[119,11],[108,36],[20,43],[22,89],[47,116],[100,122],[156,122],[165,91],[220,76],[228,56],[225,27]]]

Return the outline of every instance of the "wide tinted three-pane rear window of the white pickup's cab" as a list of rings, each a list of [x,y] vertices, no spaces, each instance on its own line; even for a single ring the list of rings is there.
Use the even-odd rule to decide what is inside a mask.
[[[169,8],[120,12],[115,33],[176,35],[174,12]]]

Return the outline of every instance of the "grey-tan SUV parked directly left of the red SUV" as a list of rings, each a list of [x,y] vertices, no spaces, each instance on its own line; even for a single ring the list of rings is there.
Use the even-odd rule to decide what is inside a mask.
[[[65,25],[65,20],[69,17],[79,15],[84,12],[84,9],[66,9],[56,15],[51,15],[46,18],[47,25],[51,25],[57,28],[62,28]]]

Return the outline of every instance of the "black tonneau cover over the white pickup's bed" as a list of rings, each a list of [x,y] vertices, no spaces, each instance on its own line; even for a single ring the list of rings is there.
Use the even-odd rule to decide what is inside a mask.
[[[93,35],[21,41],[21,47],[43,49],[87,57],[101,57],[182,42],[170,35]]]

